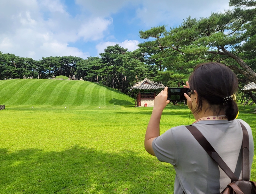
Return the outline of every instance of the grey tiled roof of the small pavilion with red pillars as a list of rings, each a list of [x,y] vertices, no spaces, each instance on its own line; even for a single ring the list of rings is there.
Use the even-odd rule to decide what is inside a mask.
[[[164,88],[163,84],[157,84],[153,81],[150,81],[148,78],[143,79],[139,83],[134,84],[131,90],[136,90],[136,91],[157,91],[157,90],[162,90]]]

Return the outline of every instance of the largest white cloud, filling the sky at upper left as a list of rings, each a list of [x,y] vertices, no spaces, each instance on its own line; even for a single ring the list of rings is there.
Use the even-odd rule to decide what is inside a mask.
[[[34,59],[65,55],[87,58],[88,52],[68,43],[102,39],[113,22],[111,18],[83,15],[73,18],[60,0],[31,0],[29,5],[28,0],[0,1],[0,7],[4,7],[0,12],[0,51]],[[45,11],[48,19],[44,18]]]

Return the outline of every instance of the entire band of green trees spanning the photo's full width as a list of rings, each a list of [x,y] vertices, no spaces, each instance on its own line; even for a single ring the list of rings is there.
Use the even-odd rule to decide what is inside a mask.
[[[50,56],[38,61],[0,52],[0,79],[76,75],[128,93],[145,77],[180,87],[197,64],[218,62],[236,72],[241,89],[256,83],[256,1],[229,0],[229,5],[232,9],[207,18],[188,17],[169,31],[166,26],[139,31],[145,41],[132,52],[116,44],[100,57]],[[252,92],[246,94],[256,102]]]

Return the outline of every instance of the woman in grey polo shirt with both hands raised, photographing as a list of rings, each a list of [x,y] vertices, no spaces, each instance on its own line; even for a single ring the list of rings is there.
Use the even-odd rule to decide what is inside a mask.
[[[234,174],[241,179],[241,145],[243,123],[249,134],[250,169],[253,160],[253,138],[250,126],[236,119],[236,75],[220,63],[196,66],[189,77],[189,95],[184,93],[192,111],[195,126],[219,153]],[[174,194],[220,193],[231,182],[217,163],[204,151],[184,126],[173,127],[160,136],[159,124],[167,101],[167,87],[155,98],[145,135],[145,149],[176,171]],[[210,119],[207,119],[210,118]],[[207,119],[207,120],[206,120]]]

